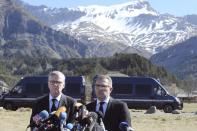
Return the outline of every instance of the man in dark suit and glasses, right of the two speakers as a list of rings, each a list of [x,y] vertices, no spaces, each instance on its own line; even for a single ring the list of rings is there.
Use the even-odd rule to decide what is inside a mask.
[[[101,111],[107,131],[119,131],[119,124],[127,122],[131,126],[131,116],[127,104],[110,97],[112,80],[107,75],[98,75],[95,79],[96,101],[86,105],[89,111]]]

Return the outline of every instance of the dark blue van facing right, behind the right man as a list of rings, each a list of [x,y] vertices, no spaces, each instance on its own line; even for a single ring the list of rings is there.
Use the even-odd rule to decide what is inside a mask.
[[[179,98],[170,95],[154,78],[133,76],[111,78],[113,82],[111,96],[125,101],[129,108],[148,109],[151,106],[156,106],[166,113],[183,108],[183,103]],[[95,97],[94,90],[93,84],[93,97]]]

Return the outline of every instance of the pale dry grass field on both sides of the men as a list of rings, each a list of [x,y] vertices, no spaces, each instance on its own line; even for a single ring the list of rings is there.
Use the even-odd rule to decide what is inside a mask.
[[[135,131],[196,131],[197,103],[184,104],[181,114],[170,114],[159,111],[155,114],[144,114],[145,110],[131,110],[132,125]],[[17,111],[0,110],[0,131],[25,131],[30,109]]]

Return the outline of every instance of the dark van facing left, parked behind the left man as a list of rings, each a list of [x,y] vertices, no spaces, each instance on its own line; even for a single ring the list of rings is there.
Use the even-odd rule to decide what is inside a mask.
[[[63,93],[83,102],[85,94],[85,78],[83,76],[69,76],[65,80]],[[37,100],[49,93],[48,76],[27,76],[21,80],[1,98],[1,105],[5,109],[16,110],[19,107],[32,107]]]

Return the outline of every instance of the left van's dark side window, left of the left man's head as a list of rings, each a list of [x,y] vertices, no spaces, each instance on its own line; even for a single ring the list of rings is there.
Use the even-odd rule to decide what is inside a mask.
[[[28,83],[26,84],[27,94],[41,94],[41,84]]]

